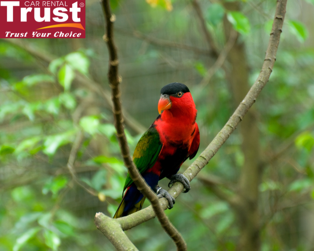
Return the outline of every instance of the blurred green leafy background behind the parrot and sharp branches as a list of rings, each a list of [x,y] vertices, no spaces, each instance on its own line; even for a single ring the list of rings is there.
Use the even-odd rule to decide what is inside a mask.
[[[200,1],[217,51],[224,48],[229,24],[239,33],[234,48],[243,45],[244,56],[232,59],[231,49],[210,83],[199,85],[217,55],[208,49],[191,1],[111,0],[123,107],[135,121],[126,123],[131,152],[158,115],[160,88],[171,82],[191,90],[201,133],[198,155],[202,152],[239,103],[240,87],[232,85],[236,73],[230,69],[246,62],[247,86],[258,76],[275,4]],[[250,136],[236,130],[201,172],[223,193],[245,197],[242,192],[251,188],[241,187],[243,167],[249,158],[255,161],[258,179],[251,185],[258,192],[262,251],[314,250],[313,4],[288,1],[277,61],[253,106],[255,122],[249,123],[256,124],[253,143],[259,150],[246,156]],[[86,0],[86,39],[23,39],[18,45],[19,40],[0,40],[1,251],[114,250],[93,223],[98,211],[114,214],[127,173],[104,99],[109,85],[103,34],[100,4]],[[86,79],[94,82],[84,84]],[[83,141],[73,176],[68,161],[79,132]],[[194,179],[191,186],[166,211],[189,250],[239,249],[247,212],[236,211],[206,182]],[[156,219],[127,235],[140,250],[175,250]]]

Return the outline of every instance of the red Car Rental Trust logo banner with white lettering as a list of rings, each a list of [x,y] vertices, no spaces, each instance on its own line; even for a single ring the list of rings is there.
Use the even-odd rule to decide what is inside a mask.
[[[0,38],[85,38],[85,0],[0,2]]]

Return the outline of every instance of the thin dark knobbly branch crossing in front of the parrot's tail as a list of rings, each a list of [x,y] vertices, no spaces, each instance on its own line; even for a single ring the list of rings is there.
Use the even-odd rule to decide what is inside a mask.
[[[161,226],[164,228],[165,232],[173,239],[176,243],[178,250],[187,250],[187,244],[185,243],[181,234],[176,230],[176,228],[172,225],[169,221],[168,217],[165,215],[164,209],[160,206],[158,197],[154,193],[154,191],[148,186],[148,184],[143,179],[142,175],[139,173],[138,169],[134,165],[130,152],[129,147],[127,145],[127,138],[124,133],[124,125],[123,125],[123,118],[122,118],[122,110],[121,110],[121,92],[120,92],[120,82],[122,81],[122,77],[118,74],[118,55],[116,45],[114,44],[113,40],[113,22],[116,19],[114,14],[111,14],[109,0],[102,0],[102,7],[104,11],[104,16],[106,19],[106,34],[103,36],[104,41],[107,43],[108,51],[109,51],[109,70],[108,70],[108,80],[111,87],[111,95],[112,95],[112,102],[113,102],[113,115],[114,115],[114,124],[117,131],[117,138],[119,142],[119,146],[121,149],[122,157],[125,166],[128,169],[128,172],[131,176],[131,179],[134,181],[135,185],[137,186],[138,190],[149,199],[154,212],[160,221]],[[97,218],[100,214],[96,214],[95,216],[95,224],[97,228],[101,228],[99,224],[97,224]],[[110,231],[109,231],[110,232]],[[111,234],[111,232],[110,232]],[[107,236],[107,235],[106,235]],[[108,236],[107,236],[108,237]],[[112,239],[108,237],[108,239]],[[112,242],[113,244],[116,243],[116,248],[119,250],[125,250],[120,243],[121,242]]]

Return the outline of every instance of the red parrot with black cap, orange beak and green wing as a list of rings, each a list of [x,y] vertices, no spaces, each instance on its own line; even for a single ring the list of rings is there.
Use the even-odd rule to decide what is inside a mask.
[[[168,186],[179,181],[185,191],[190,182],[183,174],[177,174],[187,158],[194,158],[199,147],[199,130],[195,122],[197,109],[186,85],[170,83],[160,91],[159,116],[138,141],[133,162],[147,184],[159,198],[169,201],[169,209],[175,199],[158,186],[158,181],[167,177]],[[124,184],[122,201],[113,218],[119,218],[142,209],[146,197],[137,189],[129,174]],[[123,195],[122,193],[122,195]]]

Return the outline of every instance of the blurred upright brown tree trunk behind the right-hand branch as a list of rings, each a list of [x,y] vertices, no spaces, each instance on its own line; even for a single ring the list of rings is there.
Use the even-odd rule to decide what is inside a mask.
[[[238,2],[224,3],[227,10],[240,9]],[[230,22],[224,19],[225,37],[228,40]],[[238,41],[229,52],[228,61],[231,64],[230,83],[236,106],[241,103],[250,89],[248,83],[249,68],[244,43]],[[257,112],[250,109],[240,124],[242,136],[242,151],[245,157],[239,180],[240,209],[236,212],[240,223],[240,240],[238,250],[252,251],[260,249],[258,185],[260,183],[259,163],[259,130],[257,127]]]

